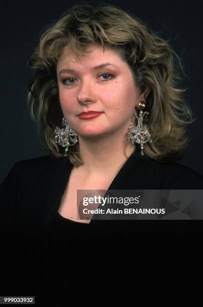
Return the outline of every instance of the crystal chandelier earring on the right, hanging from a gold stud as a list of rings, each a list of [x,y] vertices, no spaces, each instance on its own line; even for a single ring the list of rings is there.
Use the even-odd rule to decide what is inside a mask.
[[[144,156],[144,143],[152,142],[151,135],[148,131],[147,124],[143,125],[143,120],[147,121],[147,115],[149,112],[144,112],[143,109],[145,108],[145,102],[140,101],[138,104],[138,109],[140,110],[139,116],[137,115],[136,111],[133,113],[131,117],[131,122],[129,125],[129,133],[127,134],[127,140],[131,143],[138,143],[141,147],[141,155]],[[137,126],[133,125],[133,116],[137,118]],[[144,118],[145,117],[145,118]]]

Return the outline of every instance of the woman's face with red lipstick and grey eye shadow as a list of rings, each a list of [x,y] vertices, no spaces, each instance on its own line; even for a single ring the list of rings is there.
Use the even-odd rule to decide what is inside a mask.
[[[141,94],[128,64],[116,51],[106,47],[103,52],[102,46],[94,47],[79,62],[68,53],[68,46],[63,49],[57,78],[64,117],[81,137],[126,134],[135,106],[140,100],[146,101],[146,93]],[[96,67],[99,65],[103,67]],[[101,113],[94,118],[78,117],[89,110]]]

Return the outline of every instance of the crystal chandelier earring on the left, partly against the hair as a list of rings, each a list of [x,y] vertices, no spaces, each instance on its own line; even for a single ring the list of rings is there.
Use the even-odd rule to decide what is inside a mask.
[[[69,126],[64,116],[62,119],[62,126],[65,126],[65,129],[60,129],[56,126],[54,130],[54,142],[55,144],[58,143],[62,147],[65,147],[64,156],[66,157],[68,155],[68,147],[73,146],[77,143],[77,133]]]

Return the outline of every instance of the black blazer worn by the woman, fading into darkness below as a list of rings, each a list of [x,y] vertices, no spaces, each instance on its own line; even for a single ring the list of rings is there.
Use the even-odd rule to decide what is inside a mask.
[[[92,290],[93,284],[99,285],[104,274],[106,286],[113,276],[119,281],[124,260],[134,263],[137,278],[136,261],[149,264],[157,250],[156,241],[161,246],[158,258],[164,259],[163,243],[174,246],[175,236],[181,236],[181,242],[184,236],[188,240],[188,235],[201,235],[202,240],[202,220],[68,222],[57,210],[71,169],[68,157],[52,159],[47,155],[17,162],[2,183],[0,225],[4,249],[1,260],[5,267],[5,272],[1,271],[2,295],[35,295],[39,305],[44,299],[45,305],[49,302],[64,306],[59,298],[62,301],[63,295],[65,299],[70,296],[70,284],[73,285],[71,290],[78,289],[79,285],[82,297],[85,284],[88,291]],[[141,158],[134,153],[109,190],[202,188],[203,177],[195,171],[177,163]],[[169,235],[173,235],[172,243]],[[153,242],[151,247],[150,242]],[[109,286],[112,287],[112,283]],[[121,286],[124,286],[122,280],[118,288]],[[85,297],[90,294],[84,293]]]

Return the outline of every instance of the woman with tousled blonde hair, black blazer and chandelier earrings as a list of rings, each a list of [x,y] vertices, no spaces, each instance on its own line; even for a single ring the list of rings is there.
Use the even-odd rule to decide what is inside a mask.
[[[110,5],[73,6],[41,36],[29,61],[28,101],[49,155],[14,165],[2,184],[2,225],[24,243],[37,238],[36,257],[45,238],[50,279],[53,269],[59,274],[54,264],[67,260],[66,244],[202,232],[194,221],[101,221],[81,219],[77,210],[77,190],[202,189],[200,174],[175,163],[192,122],[178,63],[166,41]]]

